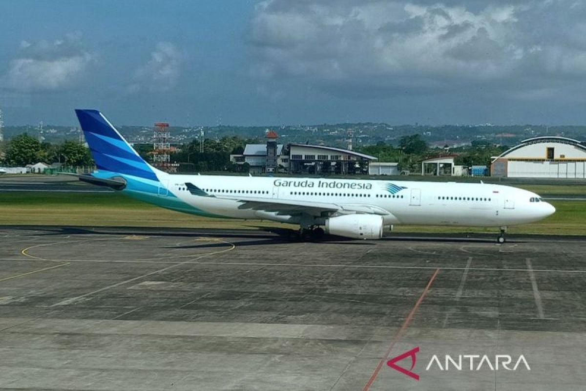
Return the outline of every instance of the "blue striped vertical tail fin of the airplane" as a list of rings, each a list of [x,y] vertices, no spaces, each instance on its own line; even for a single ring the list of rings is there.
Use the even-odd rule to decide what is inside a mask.
[[[154,168],[122,138],[97,110],[76,110],[81,130],[98,169],[158,181]]]

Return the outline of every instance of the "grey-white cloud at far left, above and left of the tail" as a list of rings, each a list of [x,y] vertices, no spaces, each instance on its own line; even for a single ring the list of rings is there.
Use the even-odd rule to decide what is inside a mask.
[[[18,91],[57,90],[69,87],[90,63],[80,34],[70,34],[53,42],[22,40],[21,51],[9,63],[2,84]]]

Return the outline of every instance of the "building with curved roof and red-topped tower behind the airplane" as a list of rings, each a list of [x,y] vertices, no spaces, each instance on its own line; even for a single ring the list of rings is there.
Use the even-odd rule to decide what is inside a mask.
[[[249,166],[253,174],[287,172],[289,174],[369,174],[376,157],[349,149],[309,144],[277,144],[277,134],[267,132],[267,144],[247,144],[241,155],[230,155],[235,164]]]

